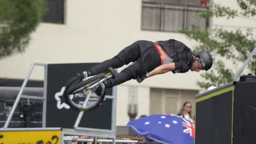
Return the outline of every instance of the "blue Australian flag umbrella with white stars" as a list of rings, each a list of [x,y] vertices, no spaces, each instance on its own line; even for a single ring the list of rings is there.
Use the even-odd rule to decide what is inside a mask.
[[[170,144],[193,144],[195,125],[182,117],[166,114],[142,117],[127,126],[138,136]]]

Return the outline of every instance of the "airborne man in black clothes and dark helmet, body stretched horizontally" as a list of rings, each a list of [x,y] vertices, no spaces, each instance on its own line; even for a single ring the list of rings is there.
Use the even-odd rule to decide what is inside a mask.
[[[96,94],[100,95],[102,88],[110,88],[131,79],[137,79],[141,83],[144,79],[165,74],[168,71],[175,73],[187,73],[191,71],[209,70],[213,59],[211,53],[202,50],[195,55],[188,46],[181,41],[170,39],[164,41],[138,40],[121,50],[117,56],[99,63],[80,74],[80,79],[104,73],[109,67],[120,68],[125,64],[129,67],[122,70],[114,78],[106,79],[103,85],[99,85]]]

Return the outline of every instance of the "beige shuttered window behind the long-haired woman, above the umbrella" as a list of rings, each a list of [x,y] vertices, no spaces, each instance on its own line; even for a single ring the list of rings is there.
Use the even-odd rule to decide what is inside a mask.
[[[198,91],[150,88],[149,114],[173,113],[176,115],[185,101],[194,106],[194,97]],[[194,107],[192,112],[194,113]]]

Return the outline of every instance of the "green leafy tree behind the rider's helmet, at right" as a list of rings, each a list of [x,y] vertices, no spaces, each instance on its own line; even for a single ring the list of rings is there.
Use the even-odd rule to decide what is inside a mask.
[[[237,4],[240,10],[223,7],[220,4],[212,4],[210,9],[201,13],[201,16],[207,19],[211,17],[226,17],[226,19],[244,17],[252,19],[256,23],[256,0],[237,0]],[[220,86],[231,82],[237,71],[228,69],[225,61],[233,62],[235,67],[238,62],[244,62],[247,59],[256,45],[256,35],[253,35],[252,28],[247,28],[245,32],[240,28],[228,31],[217,27],[212,29],[211,32],[203,32],[198,27],[193,26],[193,28],[183,29],[181,32],[187,35],[189,39],[199,42],[195,51],[206,49],[212,53],[215,60],[214,69],[201,74],[203,80],[197,82],[202,88],[212,85]],[[254,71],[254,63],[249,63],[248,68]]]

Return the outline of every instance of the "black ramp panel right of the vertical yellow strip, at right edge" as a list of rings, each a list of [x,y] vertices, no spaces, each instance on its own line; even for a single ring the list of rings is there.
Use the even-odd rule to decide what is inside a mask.
[[[238,82],[234,91],[233,143],[256,143],[256,83]]]

